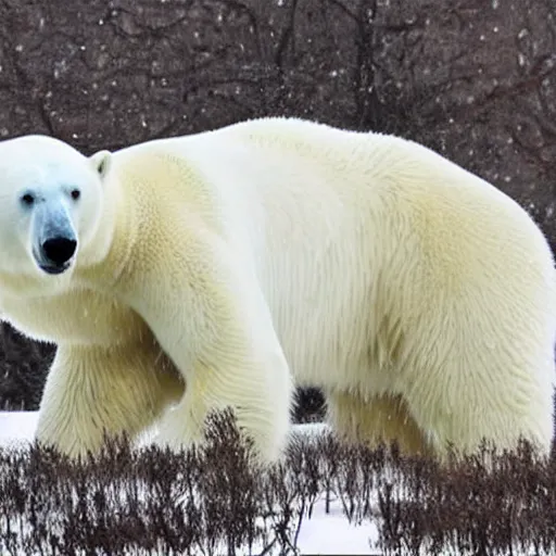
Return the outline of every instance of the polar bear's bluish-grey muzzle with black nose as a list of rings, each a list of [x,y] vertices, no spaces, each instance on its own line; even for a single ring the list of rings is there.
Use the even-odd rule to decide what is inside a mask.
[[[47,274],[62,274],[70,268],[77,251],[77,238],[65,207],[45,203],[35,214],[36,241],[33,256]]]

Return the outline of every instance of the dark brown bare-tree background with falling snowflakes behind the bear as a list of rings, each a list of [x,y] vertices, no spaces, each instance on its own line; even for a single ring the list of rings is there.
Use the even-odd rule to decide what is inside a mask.
[[[0,139],[85,154],[249,117],[395,132],[490,180],[554,249],[556,0],[0,0]],[[1,256],[1,254],[0,254]],[[54,346],[0,329],[0,408]],[[298,418],[318,413],[305,391]]]

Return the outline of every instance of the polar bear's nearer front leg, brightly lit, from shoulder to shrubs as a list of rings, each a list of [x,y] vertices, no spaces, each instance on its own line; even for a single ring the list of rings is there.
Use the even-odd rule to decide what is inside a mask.
[[[288,440],[293,384],[266,301],[232,249],[195,239],[181,238],[187,253],[153,261],[130,300],[188,386],[159,440],[199,443],[207,415],[231,408],[261,462],[275,462]]]

